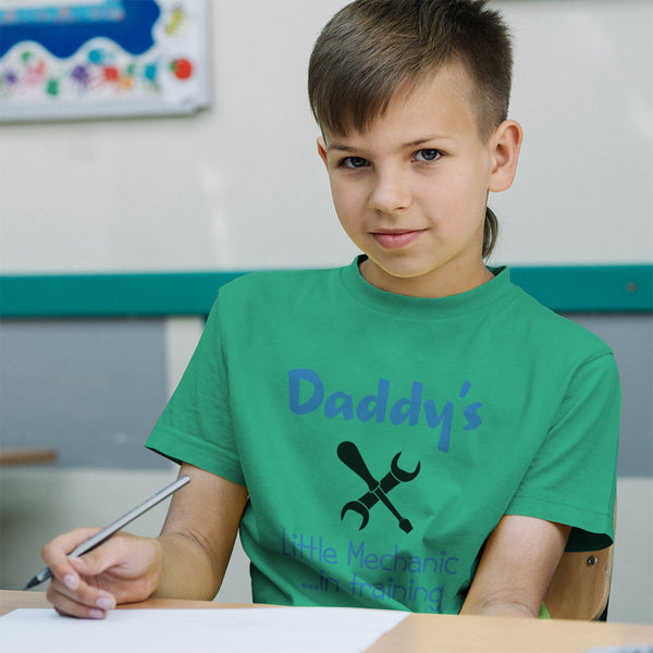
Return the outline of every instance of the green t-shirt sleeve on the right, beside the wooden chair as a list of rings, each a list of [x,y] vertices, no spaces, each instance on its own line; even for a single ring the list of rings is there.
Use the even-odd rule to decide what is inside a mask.
[[[572,527],[567,551],[614,540],[620,387],[612,353],[579,366],[507,515]]]

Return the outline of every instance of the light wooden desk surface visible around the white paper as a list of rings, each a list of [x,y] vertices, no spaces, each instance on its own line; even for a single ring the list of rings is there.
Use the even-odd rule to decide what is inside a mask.
[[[0,614],[16,607],[47,607],[42,592],[0,590]],[[150,599],[134,608],[252,607],[210,601]],[[583,653],[596,646],[653,645],[653,626],[552,619],[506,619],[411,614],[368,653]]]

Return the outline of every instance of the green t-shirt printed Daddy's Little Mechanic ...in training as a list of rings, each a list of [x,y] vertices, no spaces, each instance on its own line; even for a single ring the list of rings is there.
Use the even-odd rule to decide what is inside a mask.
[[[427,299],[358,261],[221,288],[148,446],[247,486],[254,600],[458,613],[503,515],[613,538],[619,383],[507,269]]]

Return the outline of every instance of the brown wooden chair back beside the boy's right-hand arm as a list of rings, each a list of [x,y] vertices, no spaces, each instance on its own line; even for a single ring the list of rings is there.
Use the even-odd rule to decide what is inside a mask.
[[[615,505],[615,526],[616,518]],[[601,551],[563,554],[544,595],[552,618],[606,620],[614,550],[613,543]]]

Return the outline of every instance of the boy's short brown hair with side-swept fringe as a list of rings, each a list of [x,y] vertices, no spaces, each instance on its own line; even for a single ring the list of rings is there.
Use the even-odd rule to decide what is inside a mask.
[[[506,120],[513,48],[501,15],[484,0],[355,0],[316,41],[308,69],[310,106],[322,131],[365,131],[397,91],[410,89],[451,62],[471,79],[479,135]],[[498,223],[488,209],[483,257]]]

